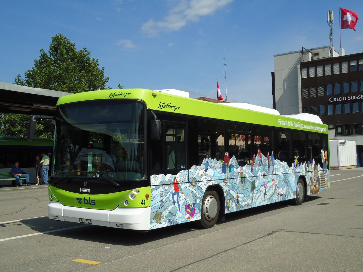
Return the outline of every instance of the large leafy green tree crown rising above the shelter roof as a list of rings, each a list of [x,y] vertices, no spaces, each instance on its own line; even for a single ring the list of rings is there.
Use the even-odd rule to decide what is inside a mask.
[[[15,84],[72,93],[104,90],[109,81],[104,73],[86,48],[77,51],[73,42],[57,34],[48,53],[41,49],[34,67],[25,72],[25,79],[17,75]]]

